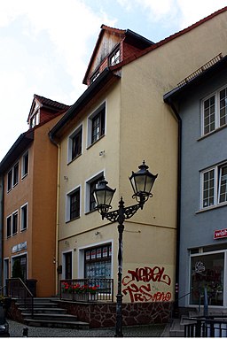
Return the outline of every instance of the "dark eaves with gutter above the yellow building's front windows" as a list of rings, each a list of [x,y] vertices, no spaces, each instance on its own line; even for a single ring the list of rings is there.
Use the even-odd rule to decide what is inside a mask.
[[[103,89],[104,84],[114,77],[119,78],[119,76],[111,72],[109,68],[106,68],[100,73],[96,81],[91,83],[91,85],[82,93],[82,96],[78,98],[78,100],[68,109],[66,114],[59,119],[59,122],[51,129],[49,134],[50,137],[54,138],[60,129],[65,126],[67,121],[74,118],[76,111],[82,108],[82,106],[90,100],[90,97],[93,97],[98,91]]]

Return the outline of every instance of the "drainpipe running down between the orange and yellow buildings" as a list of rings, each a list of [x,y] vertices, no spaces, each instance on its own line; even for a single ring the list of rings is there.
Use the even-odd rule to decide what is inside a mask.
[[[59,188],[60,188],[60,145],[57,143],[51,133],[49,134],[51,143],[58,148],[58,165],[57,165],[57,201],[56,201],[56,238],[55,238],[55,292],[56,295],[59,293]]]

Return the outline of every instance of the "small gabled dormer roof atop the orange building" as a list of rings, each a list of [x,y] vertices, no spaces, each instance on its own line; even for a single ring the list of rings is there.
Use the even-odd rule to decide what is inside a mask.
[[[27,121],[32,116],[32,114],[35,110],[36,102],[38,102],[40,104],[40,107],[43,107],[43,108],[45,108],[46,110],[48,110],[49,112],[52,112],[52,113],[66,112],[67,109],[70,107],[67,104],[61,104],[58,101],[53,101],[51,99],[47,99],[44,96],[38,96],[38,95],[35,94],[33,102],[31,104],[29,114],[28,114]]]

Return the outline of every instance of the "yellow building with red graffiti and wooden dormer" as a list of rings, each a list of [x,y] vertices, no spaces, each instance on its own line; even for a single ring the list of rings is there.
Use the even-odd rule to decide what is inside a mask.
[[[163,305],[174,300],[178,121],[162,96],[220,49],[226,53],[226,16],[226,9],[216,12],[162,42],[120,57],[104,70],[119,42],[106,42],[110,27],[105,27],[108,35],[99,35],[84,78],[88,89],[51,130],[60,149],[59,280],[116,277],[117,227],[100,220],[92,190],[105,177],[116,188],[113,208],[121,196],[131,204],[127,178],[145,159],[159,176],[145,210],[125,222],[124,303]],[[189,44],[190,51],[183,53]]]

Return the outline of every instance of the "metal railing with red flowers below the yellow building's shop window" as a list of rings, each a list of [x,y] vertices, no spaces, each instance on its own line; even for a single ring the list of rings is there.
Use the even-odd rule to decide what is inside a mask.
[[[59,282],[62,300],[74,302],[114,301],[114,279],[67,279]]]

